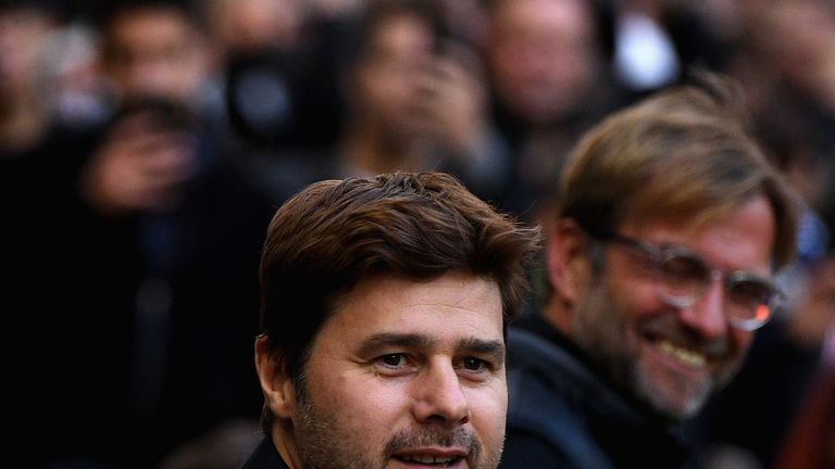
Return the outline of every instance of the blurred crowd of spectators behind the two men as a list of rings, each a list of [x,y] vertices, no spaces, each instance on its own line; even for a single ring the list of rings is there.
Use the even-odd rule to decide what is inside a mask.
[[[257,272],[283,201],[444,170],[537,223],[579,134],[699,68],[738,80],[806,215],[786,306],[693,431],[706,465],[790,466],[812,395],[835,394],[831,0],[0,0],[16,446],[236,467],[260,440]]]

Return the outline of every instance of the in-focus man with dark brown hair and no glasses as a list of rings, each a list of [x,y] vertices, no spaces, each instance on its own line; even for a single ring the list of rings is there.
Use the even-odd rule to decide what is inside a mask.
[[[247,468],[496,468],[507,321],[538,230],[437,173],[314,183],[275,214]]]

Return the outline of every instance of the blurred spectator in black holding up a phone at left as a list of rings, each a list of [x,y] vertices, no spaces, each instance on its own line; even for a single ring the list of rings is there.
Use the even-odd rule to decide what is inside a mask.
[[[72,366],[38,377],[30,398],[35,420],[61,434],[40,464],[152,467],[227,419],[258,415],[257,382],[239,364],[257,333],[272,206],[224,152],[199,15],[148,1],[99,13],[113,115],[67,177],[63,243],[45,253],[60,296],[38,310],[37,359]],[[64,404],[43,406],[53,383]]]

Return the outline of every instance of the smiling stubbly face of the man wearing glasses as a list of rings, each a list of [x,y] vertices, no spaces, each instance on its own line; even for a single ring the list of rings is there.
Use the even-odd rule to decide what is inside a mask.
[[[774,218],[758,197],[726,219],[697,230],[675,223],[626,224],[619,230],[688,248],[723,271],[770,272]],[[732,327],[722,281],[691,306],[664,303],[645,257],[608,244],[606,266],[576,304],[574,340],[620,388],[673,420],[697,413],[735,375],[753,333]]]

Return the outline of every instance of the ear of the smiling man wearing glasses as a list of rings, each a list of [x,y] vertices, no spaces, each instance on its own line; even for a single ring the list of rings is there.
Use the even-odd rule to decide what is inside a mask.
[[[571,307],[583,288],[587,270],[583,229],[571,218],[552,223],[547,242],[548,280],[557,297]]]

